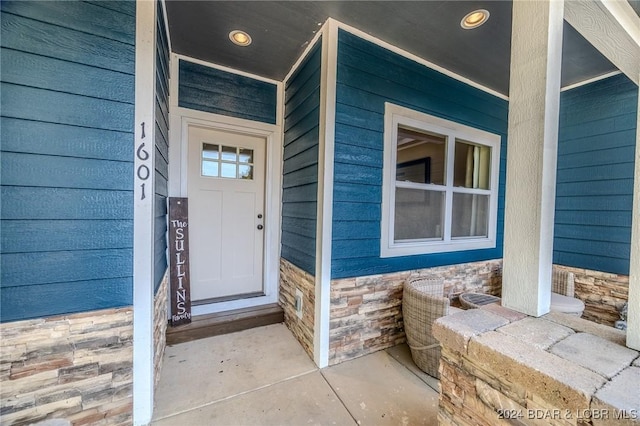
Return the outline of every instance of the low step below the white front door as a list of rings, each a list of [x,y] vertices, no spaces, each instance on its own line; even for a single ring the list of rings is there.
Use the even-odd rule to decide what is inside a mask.
[[[276,303],[194,316],[189,324],[167,327],[167,345],[281,322],[284,322],[284,311]]]

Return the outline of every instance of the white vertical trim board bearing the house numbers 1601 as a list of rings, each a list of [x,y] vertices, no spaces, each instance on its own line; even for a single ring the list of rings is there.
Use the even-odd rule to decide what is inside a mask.
[[[153,414],[153,189],[156,2],[136,2],[133,203],[133,424]]]

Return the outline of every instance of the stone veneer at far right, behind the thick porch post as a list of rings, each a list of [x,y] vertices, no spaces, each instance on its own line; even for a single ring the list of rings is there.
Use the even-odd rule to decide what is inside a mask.
[[[629,276],[554,265],[575,275],[575,297],[585,304],[582,318],[612,326],[629,300]]]

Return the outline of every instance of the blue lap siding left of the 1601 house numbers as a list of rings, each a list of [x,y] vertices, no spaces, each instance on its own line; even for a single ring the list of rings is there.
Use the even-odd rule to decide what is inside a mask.
[[[0,8],[1,320],[131,305],[135,4]]]

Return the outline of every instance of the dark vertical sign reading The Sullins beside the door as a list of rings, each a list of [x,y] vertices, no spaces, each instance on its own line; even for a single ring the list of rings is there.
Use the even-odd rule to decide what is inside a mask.
[[[189,209],[186,198],[169,198],[169,279],[171,325],[191,322]]]

